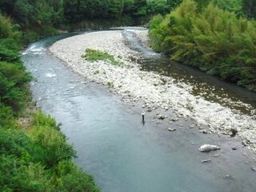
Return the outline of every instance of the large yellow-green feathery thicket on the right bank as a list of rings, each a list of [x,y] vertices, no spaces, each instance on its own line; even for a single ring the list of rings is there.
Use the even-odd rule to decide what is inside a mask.
[[[174,61],[198,67],[256,91],[256,22],[210,3],[198,9],[184,0],[150,21],[152,48]]]

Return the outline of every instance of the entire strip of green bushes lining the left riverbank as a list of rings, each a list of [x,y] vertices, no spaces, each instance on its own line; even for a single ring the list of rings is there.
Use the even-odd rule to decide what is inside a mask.
[[[55,120],[30,102],[21,33],[0,15],[0,191],[100,191],[72,163],[76,153]]]

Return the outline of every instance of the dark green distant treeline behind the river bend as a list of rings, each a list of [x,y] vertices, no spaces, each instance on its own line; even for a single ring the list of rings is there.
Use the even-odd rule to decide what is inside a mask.
[[[154,14],[167,14],[181,0],[1,0],[0,14],[16,23],[23,39],[57,33],[56,29],[138,25]]]

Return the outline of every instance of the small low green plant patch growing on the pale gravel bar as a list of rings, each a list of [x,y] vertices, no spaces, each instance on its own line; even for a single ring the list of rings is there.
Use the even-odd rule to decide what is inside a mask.
[[[86,49],[86,54],[82,55],[87,61],[106,61],[112,65],[121,65],[120,61],[116,61],[113,55],[95,49]]]

